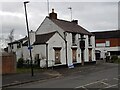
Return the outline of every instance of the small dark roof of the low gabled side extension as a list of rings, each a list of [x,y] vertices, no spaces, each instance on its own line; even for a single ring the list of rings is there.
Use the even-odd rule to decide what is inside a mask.
[[[36,35],[36,41],[34,42],[33,45],[45,44],[55,33],[56,31],[46,34]]]

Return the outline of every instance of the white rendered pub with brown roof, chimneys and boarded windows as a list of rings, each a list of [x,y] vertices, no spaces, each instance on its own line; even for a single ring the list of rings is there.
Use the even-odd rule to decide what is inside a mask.
[[[31,40],[32,56],[41,60],[41,67],[96,62],[95,36],[78,25],[78,20],[58,19],[54,9],[32,32]],[[27,45],[23,46],[24,59],[29,56]]]

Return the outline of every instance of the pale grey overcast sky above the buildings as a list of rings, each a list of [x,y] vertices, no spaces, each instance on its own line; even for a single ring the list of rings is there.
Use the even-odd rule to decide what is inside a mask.
[[[17,2],[19,1],[19,2]],[[0,2],[0,18],[2,28],[0,37],[7,38],[10,30],[14,29],[15,39],[27,34],[23,1],[4,0]],[[30,30],[36,30],[41,22],[48,16],[47,0],[29,0],[27,4],[28,20]],[[72,19],[77,19],[79,25],[88,31],[105,31],[118,29],[118,1],[119,0],[49,0],[49,12],[54,8],[58,19],[70,21],[70,10],[72,7]],[[60,1],[60,2],[58,2]],[[100,0],[101,1],[101,0]],[[105,2],[108,1],[108,2]]]

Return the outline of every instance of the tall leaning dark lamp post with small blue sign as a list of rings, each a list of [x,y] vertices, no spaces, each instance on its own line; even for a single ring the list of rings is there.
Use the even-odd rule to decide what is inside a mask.
[[[29,1],[25,1],[24,2],[24,8],[25,8],[25,18],[26,18],[26,26],[27,26],[27,33],[28,33],[28,49],[29,49],[29,53],[30,53],[30,59],[31,59],[31,75],[33,76],[33,65],[32,65],[32,47],[30,45],[30,35],[29,35],[29,26],[28,26],[28,19],[27,19],[27,9],[26,9],[26,4],[29,3]]]

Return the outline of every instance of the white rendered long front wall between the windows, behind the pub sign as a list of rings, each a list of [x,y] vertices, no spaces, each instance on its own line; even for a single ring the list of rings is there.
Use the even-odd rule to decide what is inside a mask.
[[[67,33],[66,40],[67,40],[67,55],[68,55],[68,65],[72,64],[72,49],[71,47],[77,47],[77,63],[81,63],[81,49],[79,45],[79,39],[80,34],[76,34],[76,44],[77,46],[72,46],[72,33]],[[84,50],[84,61],[89,62],[89,44],[88,44],[88,35],[84,35],[85,38],[85,50]],[[91,44],[90,48],[92,48],[92,61],[95,60],[95,37],[91,36]],[[80,54],[80,57],[78,57],[78,54]]]

